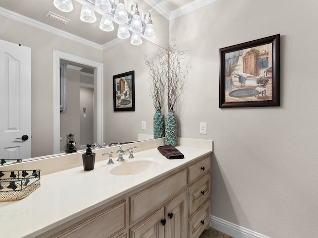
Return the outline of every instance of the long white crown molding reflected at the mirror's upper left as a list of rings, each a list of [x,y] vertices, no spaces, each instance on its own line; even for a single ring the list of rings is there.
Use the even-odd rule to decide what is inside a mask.
[[[95,48],[95,49],[98,49],[98,50],[102,50],[102,46],[99,45],[99,44],[96,44],[96,43],[94,43],[92,41],[88,41],[88,40],[86,40],[84,38],[81,38],[79,36],[70,34],[70,33],[66,32],[66,31],[62,31],[62,30],[57,29],[55,27],[49,26],[49,25],[44,24],[42,22],[33,20],[33,19],[29,18],[29,17],[23,16],[21,14],[18,14],[16,12],[10,11],[8,9],[0,7],[0,14],[5,16],[5,17],[11,18],[13,20],[16,20],[16,21],[28,24],[30,26],[39,28],[41,30],[56,34],[58,36],[62,36],[64,38],[70,39],[72,41],[79,42],[79,43],[81,43],[83,45],[86,45],[86,46],[89,46],[89,47],[92,47],[92,48]]]

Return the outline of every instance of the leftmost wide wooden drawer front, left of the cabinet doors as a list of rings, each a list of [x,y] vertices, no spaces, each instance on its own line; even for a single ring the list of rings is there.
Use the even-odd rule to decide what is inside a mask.
[[[55,238],[108,238],[126,227],[126,201],[108,207],[73,227],[63,231]],[[119,236],[121,237],[121,236]],[[123,236],[125,237],[125,236]]]

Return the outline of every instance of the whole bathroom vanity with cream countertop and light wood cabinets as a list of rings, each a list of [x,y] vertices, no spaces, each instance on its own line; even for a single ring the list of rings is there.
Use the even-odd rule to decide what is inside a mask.
[[[92,171],[78,166],[41,176],[28,197],[0,203],[1,236],[198,238],[210,222],[212,141],[179,144],[184,159],[168,160],[156,145],[123,162],[114,154],[113,165],[104,157]]]

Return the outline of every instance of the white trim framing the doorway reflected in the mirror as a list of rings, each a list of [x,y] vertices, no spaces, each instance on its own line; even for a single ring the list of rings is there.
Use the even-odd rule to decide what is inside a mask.
[[[97,143],[103,144],[103,63],[53,50],[53,153],[60,153],[60,60],[70,60],[96,68]],[[95,129],[94,129],[95,130]]]

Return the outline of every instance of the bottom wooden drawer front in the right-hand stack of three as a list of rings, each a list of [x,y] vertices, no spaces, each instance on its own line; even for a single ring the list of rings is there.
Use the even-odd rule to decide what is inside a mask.
[[[189,238],[198,238],[210,224],[210,199],[193,215],[188,223]]]

